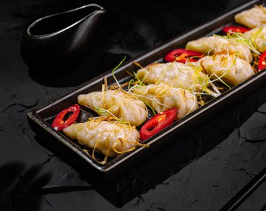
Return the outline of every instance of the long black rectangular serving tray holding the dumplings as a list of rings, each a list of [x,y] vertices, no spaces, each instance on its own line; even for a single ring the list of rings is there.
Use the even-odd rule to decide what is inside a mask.
[[[127,72],[137,71],[137,66],[133,64],[134,61],[141,64],[141,66],[146,66],[155,61],[162,61],[162,58],[170,50],[173,50],[174,48],[183,48],[188,41],[193,41],[203,36],[221,33],[222,27],[234,23],[235,14],[241,12],[241,10],[251,8],[255,4],[262,3],[262,1],[258,0],[250,1],[235,10],[231,10],[225,15],[221,15],[221,17],[218,17],[215,20],[202,24],[200,27],[179,35],[172,41],[147,52],[137,59],[127,61],[127,63],[120,66],[120,68],[118,68],[115,72],[118,82],[121,84],[132,78],[132,76],[130,76]],[[78,143],[67,138],[63,133],[55,131],[55,129],[52,129],[50,126],[52,119],[58,112],[64,108],[68,108],[74,103],[77,103],[77,96],[79,94],[102,91],[103,78],[107,78],[109,85],[115,83],[111,71],[107,71],[106,73],[99,75],[97,78],[76,87],[76,89],[73,89],[71,92],[59,96],[57,99],[52,99],[43,103],[41,106],[33,108],[27,113],[27,117],[29,119],[31,129],[36,132],[37,136],[41,136],[45,145],[57,151],[57,153],[62,155],[74,166],[83,169],[87,173],[92,173],[92,170],[94,170],[95,173],[99,173],[101,175],[112,175],[113,173],[118,173],[120,170],[125,170],[138,161],[145,162],[144,157],[148,157],[148,154],[155,153],[156,150],[161,149],[165,144],[171,144],[172,141],[176,141],[176,136],[179,136],[182,133],[188,133],[188,131],[193,129],[194,126],[197,126],[197,124],[207,121],[207,119],[214,116],[215,113],[225,109],[230,106],[230,104],[246,96],[248,93],[253,92],[255,89],[258,89],[265,82],[266,71],[256,73],[252,78],[249,78],[241,84],[226,91],[221,94],[221,96],[212,99],[204,106],[201,106],[186,117],[174,122],[174,124],[167,127],[167,129],[148,139],[146,143],[148,143],[150,147],[139,147],[137,150],[127,152],[115,159],[111,159],[105,164],[92,159],[89,154],[83,151],[82,147],[78,145]],[[90,114],[87,114],[87,111],[83,110],[83,112],[90,116]]]

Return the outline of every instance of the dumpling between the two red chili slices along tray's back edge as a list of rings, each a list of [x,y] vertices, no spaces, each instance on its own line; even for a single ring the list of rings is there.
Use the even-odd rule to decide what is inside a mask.
[[[202,54],[213,54],[215,52],[239,52],[239,57],[248,61],[253,60],[251,50],[244,44],[237,42],[234,38],[223,36],[209,36],[190,41],[186,49],[200,52]]]

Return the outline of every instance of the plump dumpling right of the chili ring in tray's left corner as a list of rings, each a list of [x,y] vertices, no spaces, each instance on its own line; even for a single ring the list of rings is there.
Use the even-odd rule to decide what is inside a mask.
[[[78,104],[94,109],[99,116],[114,115],[134,126],[144,123],[148,115],[144,102],[122,89],[80,94]]]

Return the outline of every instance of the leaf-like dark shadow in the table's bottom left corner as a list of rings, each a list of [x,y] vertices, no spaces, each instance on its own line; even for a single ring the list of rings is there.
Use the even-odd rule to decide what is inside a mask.
[[[43,196],[38,194],[50,181],[50,174],[38,173],[38,166],[26,168],[12,162],[0,167],[0,210],[38,210]]]

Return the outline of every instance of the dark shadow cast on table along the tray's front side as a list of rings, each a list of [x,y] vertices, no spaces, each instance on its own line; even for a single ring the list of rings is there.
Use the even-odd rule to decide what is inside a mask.
[[[82,161],[72,159],[71,154],[63,156],[58,150],[60,148],[52,149],[52,151],[62,155],[62,158],[76,168],[99,194],[120,208],[136,196],[155,188],[171,175],[178,173],[188,163],[223,142],[232,131],[239,129],[262,103],[265,103],[265,95],[265,90],[261,89],[257,94],[242,99],[234,107],[214,114],[208,122],[204,120],[204,124],[197,127],[192,126],[194,128],[192,131],[183,131],[183,134],[177,134],[175,140],[172,140],[169,145],[160,148],[153,154],[147,154],[141,162],[134,163],[134,166],[123,169],[123,173],[111,175],[112,177],[100,177],[89,165],[86,165],[87,173],[84,173],[85,168],[80,165]],[[49,140],[42,138],[36,136],[36,140],[50,150],[52,144],[47,144]],[[58,142],[53,142],[53,144],[55,143]]]

